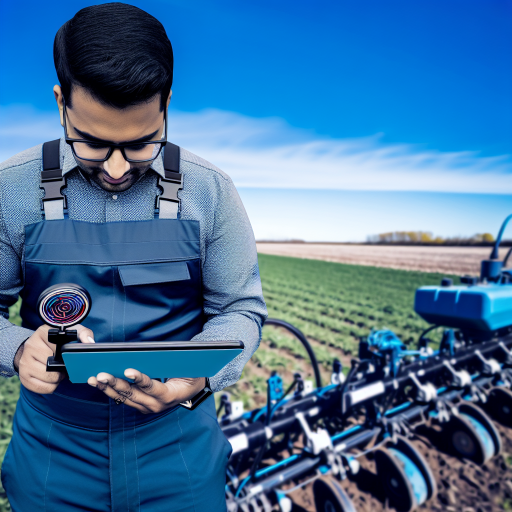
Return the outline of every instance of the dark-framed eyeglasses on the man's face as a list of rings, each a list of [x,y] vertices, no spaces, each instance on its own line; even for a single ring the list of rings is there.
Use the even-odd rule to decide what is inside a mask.
[[[66,142],[76,158],[88,160],[89,162],[105,162],[112,155],[114,149],[119,149],[127,162],[140,163],[154,160],[167,144],[167,109],[164,109],[164,137],[160,140],[149,140],[144,142],[93,142],[85,139],[72,139],[68,137],[66,125],[66,103],[62,99],[64,107],[64,136]]]

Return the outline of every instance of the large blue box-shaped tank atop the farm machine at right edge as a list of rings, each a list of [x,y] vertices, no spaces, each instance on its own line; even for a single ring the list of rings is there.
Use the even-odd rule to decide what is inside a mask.
[[[493,332],[512,325],[512,285],[423,286],[414,311],[436,325]]]

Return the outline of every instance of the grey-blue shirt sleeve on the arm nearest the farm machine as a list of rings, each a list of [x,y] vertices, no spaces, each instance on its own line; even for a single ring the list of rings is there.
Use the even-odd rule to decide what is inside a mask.
[[[240,379],[261,340],[267,308],[261,289],[256,242],[238,192],[229,177],[218,175],[214,222],[206,237],[203,263],[207,321],[194,341],[242,341],[244,350],[210,379],[213,391]]]

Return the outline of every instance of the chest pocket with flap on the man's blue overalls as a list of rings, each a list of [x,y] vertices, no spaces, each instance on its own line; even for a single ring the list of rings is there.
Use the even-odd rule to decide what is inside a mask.
[[[126,341],[187,341],[201,331],[199,259],[122,265],[118,271]]]

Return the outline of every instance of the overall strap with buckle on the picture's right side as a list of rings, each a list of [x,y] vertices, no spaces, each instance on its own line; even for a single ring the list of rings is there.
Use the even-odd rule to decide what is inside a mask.
[[[180,148],[170,142],[164,148],[164,173],[165,178],[158,177],[158,186],[163,191],[156,197],[155,214],[158,213],[160,219],[177,219],[178,190],[183,188],[183,176],[180,173]]]

